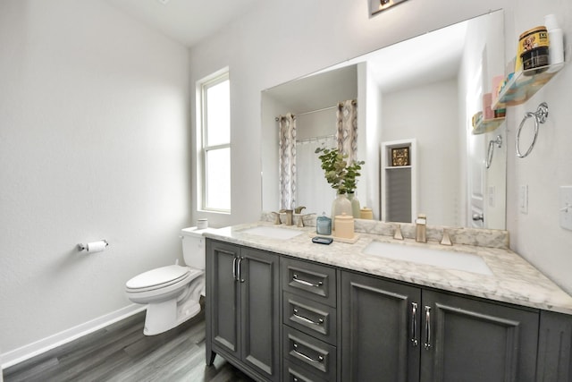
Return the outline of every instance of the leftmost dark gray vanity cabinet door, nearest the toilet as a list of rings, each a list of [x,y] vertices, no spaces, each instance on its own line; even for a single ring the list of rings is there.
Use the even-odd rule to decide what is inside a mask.
[[[240,249],[222,242],[207,241],[206,250],[206,311],[210,313],[206,318],[206,335],[212,344],[239,358],[240,283],[235,275]]]

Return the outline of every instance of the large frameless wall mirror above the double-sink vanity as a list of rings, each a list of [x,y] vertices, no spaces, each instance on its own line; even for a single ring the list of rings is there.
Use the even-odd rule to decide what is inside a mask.
[[[408,221],[388,214],[403,201],[394,179],[384,174],[393,143],[415,141],[409,213],[425,213],[432,225],[505,229],[506,127],[474,134],[472,115],[482,111],[492,77],[504,73],[503,13],[496,11],[384,47],[324,71],[262,92],[263,200],[266,211],[281,208],[283,196],[279,127],[282,117],[296,123],[289,155],[296,166],[296,207],[330,214],[333,191],[315,154],[336,146],[341,103],[357,105],[357,159],[364,160],[357,198],[375,219]],[[394,145],[395,146],[395,145]],[[283,159],[283,158],[282,158]],[[411,172],[410,172],[411,173]],[[393,182],[393,184],[390,184]],[[398,187],[398,191],[387,191]],[[407,214],[406,214],[407,215]]]

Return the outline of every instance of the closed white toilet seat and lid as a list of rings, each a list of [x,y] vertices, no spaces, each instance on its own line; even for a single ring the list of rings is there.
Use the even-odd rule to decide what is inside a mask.
[[[184,284],[201,273],[199,269],[179,265],[158,267],[131,278],[125,286],[129,293],[149,292],[172,284]]]

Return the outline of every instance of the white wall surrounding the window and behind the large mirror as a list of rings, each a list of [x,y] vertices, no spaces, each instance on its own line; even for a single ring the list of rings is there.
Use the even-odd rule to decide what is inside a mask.
[[[230,67],[231,163],[235,166],[231,215],[197,211],[194,217],[206,216],[214,225],[259,217],[262,89],[500,6],[492,0],[469,4],[410,1],[370,18],[365,1],[262,2],[246,17],[191,49],[193,83]],[[194,97],[191,101],[194,105]],[[195,203],[196,199],[194,195]]]

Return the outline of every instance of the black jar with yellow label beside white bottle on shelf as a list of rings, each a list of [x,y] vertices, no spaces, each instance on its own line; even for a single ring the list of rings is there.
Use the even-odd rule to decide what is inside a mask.
[[[544,72],[548,69],[545,66],[550,64],[548,54],[549,46],[548,30],[546,30],[544,26],[526,30],[526,32],[520,35],[518,39],[517,57],[520,57],[522,69],[528,71],[530,69],[543,67],[536,71],[525,72],[525,74],[532,75]]]

